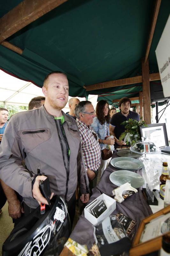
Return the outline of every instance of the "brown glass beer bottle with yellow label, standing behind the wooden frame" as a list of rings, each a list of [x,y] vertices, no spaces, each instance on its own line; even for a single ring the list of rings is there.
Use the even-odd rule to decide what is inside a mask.
[[[167,162],[163,162],[162,174],[161,174],[159,180],[161,182],[160,188],[159,188],[159,196],[160,196],[161,199],[164,200],[164,196],[165,196],[165,183],[166,183],[166,180],[170,180]]]

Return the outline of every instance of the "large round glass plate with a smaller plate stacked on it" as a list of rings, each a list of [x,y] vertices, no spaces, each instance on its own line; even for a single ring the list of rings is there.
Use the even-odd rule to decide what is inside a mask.
[[[136,171],[144,166],[140,160],[131,157],[116,157],[110,163],[117,169],[129,171]]]

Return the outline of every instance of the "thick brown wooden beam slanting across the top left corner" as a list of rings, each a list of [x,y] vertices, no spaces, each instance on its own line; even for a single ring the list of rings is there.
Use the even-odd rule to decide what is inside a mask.
[[[0,42],[67,0],[24,0],[0,19]]]

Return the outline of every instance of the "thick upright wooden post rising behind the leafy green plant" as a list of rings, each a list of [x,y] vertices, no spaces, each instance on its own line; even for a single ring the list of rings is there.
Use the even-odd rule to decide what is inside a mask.
[[[142,60],[142,83],[143,83],[143,101],[144,101],[144,121],[151,124],[151,97],[149,81],[149,61],[144,63]]]

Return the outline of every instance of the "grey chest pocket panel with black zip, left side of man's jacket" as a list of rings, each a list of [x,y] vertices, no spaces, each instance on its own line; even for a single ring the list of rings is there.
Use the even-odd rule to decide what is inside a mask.
[[[23,150],[26,153],[31,152],[34,148],[46,140],[49,140],[51,137],[49,128],[23,130],[19,131],[19,135],[22,140],[22,144],[24,145]]]

